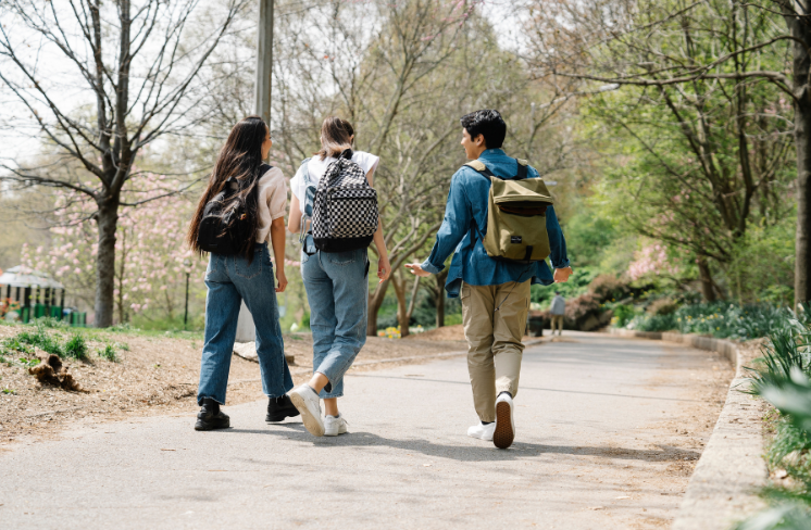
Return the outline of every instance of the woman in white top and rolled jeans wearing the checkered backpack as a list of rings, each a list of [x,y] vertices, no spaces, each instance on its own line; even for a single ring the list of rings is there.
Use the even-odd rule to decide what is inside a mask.
[[[371,211],[373,203],[376,204],[376,199],[373,199],[376,194],[371,187],[380,159],[363,151],[352,151],[354,129],[349,122],[327,117],[321,127],[321,150],[312,159],[304,160],[290,180],[292,199],[287,228],[294,234],[302,232],[301,278],[310,303],[313,376],[289,395],[301,412],[304,427],[316,437],[336,437],[347,432],[347,420],[338,412],[338,398],[344,395],[344,375],[366,342],[366,249],[370,239],[379,256],[377,278],[384,281],[391,273],[379,218],[375,218],[376,214],[372,217],[364,215]],[[352,182],[344,188],[348,191],[336,189],[339,182],[348,181]],[[335,187],[330,188],[330,193],[326,192],[326,187],[333,185]],[[352,228],[347,230],[358,229],[359,223],[374,220],[366,227],[374,235],[334,238],[332,242],[329,238],[315,239],[320,232],[313,232],[312,223],[316,223],[316,231],[322,230],[324,225],[317,224],[317,201],[322,201],[321,204],[334,201],[335,204],[330,203],[329,207],[335,212],[353,212],[349,223]],[[345,248],[348,249],[342,250]],[[320,399],[324,400],[323,418]]]

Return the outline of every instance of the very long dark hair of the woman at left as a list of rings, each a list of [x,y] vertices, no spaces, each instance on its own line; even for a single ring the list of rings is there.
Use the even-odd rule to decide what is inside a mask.
[[[240,249],[240,254],[244,254],[248,261],[253,260],[253,243],[259,229],[259,193],[257,192],[259,178],[257,177],[262,165],[262,143],[267,137],[267,125],[259,116],[242,118],[230,129],[186,235],[189,247],[199,254],[202,254],[202,250],[197,244],[197,235],[205,204],[223,191],[225,181],[233,177],[237,180],[239,190],[230,197],[224,211],[227,212],[229,209],[245,204],[245,211],[251,219],[251,227],[249,237],[245,240],[244,248]]]

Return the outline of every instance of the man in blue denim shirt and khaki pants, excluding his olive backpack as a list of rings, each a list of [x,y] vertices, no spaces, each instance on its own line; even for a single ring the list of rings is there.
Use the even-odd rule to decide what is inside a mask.
[[[461,143],[469,160],[483,162],[499,178],[517,174],[517,161],[501,150],[507,124],[498,111],[476,111],[463,116],[461,123]],[[532,166],[527,178],[538,178]],[[487,255],[479,234],[487,228],[489,192],[489,178],[470,166],[457,171],[431,255],[424,263],[406,267],[417,276],[429,276],[441,272],[453,254],[445,289],[448,296],[462,299],[467,368],[479,418],[467,434],[507,449],[515,437],[512,400],[519,391],[529,287],[566,281],[572,268],[552,206],[546,211],[546,228],[554,273],[546,261],[527,265]]]

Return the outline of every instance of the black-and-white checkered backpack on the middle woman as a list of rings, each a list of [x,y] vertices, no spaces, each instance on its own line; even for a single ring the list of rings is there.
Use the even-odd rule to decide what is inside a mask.
[[[377,230],[377,192],[347,149],[329,164],[313,199],[312,234],[322,252],[369,247]]]

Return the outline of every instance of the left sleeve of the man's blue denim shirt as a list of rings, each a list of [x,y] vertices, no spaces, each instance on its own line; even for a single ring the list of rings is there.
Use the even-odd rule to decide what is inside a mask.
[[[462,171],[458,171],[450,180],[442,226],[437,231],[431,255],[421,265],[423,270],[431,274],[437,274],[445,268],[445,261],[453,253],[471,227],[472,209],[461,182]]]

